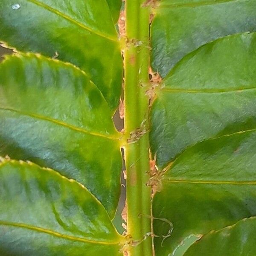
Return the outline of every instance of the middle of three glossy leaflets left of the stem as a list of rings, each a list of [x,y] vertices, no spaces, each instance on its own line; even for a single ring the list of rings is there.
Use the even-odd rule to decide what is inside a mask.
[[[107,102],[78,68],[33,54],[0,64],[0,153],[77,180],[111,217],[119,199],[119,137]]]

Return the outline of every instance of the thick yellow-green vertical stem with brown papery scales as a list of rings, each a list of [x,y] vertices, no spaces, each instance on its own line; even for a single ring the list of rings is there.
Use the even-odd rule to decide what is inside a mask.
[[[135,242],[131,256],[152,256],[148,141],[148,66],[150,8],[145,0],[126,0],[127,47],[125,58],[125,147],[128,234]],[[144,240],[143,240],[144,239]]]

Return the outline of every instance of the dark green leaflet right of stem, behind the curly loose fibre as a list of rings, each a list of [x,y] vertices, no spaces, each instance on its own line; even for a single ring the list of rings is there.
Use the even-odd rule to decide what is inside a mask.
[[[255,148],[253,130],[198,143],[177,157],[153,201],[153,216],[173,224],[163,247],[155,239],[157,256],[174,253],[190,235],[200,237],[256,215]],[[154,233],[166,234],[168,228],[155,221]]]

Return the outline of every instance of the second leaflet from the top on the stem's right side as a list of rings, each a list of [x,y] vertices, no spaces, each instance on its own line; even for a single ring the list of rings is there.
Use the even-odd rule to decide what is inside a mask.
[[[162,168],[199,141],[256,128],[256,33],[218,39],[166,76],[151,111],[151,150]]]

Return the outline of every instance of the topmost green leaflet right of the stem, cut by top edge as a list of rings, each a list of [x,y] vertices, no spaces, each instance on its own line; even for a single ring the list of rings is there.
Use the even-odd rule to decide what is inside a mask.
[[[210,41],[256,31],[254,0],[161,0],[158,5],[151,26],[151,61],[162,77]]]

